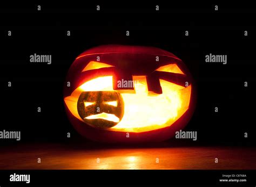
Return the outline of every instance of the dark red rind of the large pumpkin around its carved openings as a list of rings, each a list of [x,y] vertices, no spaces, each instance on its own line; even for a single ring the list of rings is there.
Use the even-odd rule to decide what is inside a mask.
[[[159,61],[156,61],[156,56],[159,57]],[[97,61],[98,57],[100,62],[108,64],[109,66],[98,69],[87,68],[87,70],[84,70],[92,61]],[[177,64],[183,74],[156,71],[158,68],[164,67],[167,64]],[[192,87],[187,110],[170,126],[145,132],[109,131],[111,128],[98,128],[90,123],[86,123],[86,121],[82,119],[78,119],[79,116],[77,117],[70,110],[66,102],[66,100],[68,100],[67,98],[85,82],[110,75],[113,76],[113,90],[119,93],[134,91],[134,88],[117,87],[118,80],[132,80],[133,76],[146,76],[148,91],[156,95],[161,95],[163,92],[159,80],[165,80],[183,86],[185,83],[188,83],[188,85],[192,85]],[[172,53],[154,47],[106,45],[89,49],[80,54],[75,62],[73,62],[66,77],[66,82],[70,82],[70,87],[66,87],[66,84],[64,85],[64,103],[71,124],[79,134],[100,142],[141,143],[170,139],[175,135],[176,131],[186,126],[196,106],[195,85],[185,64]],[[79,96],[80,93],[76,97],[78,98]],[[125,102],[124,105],[126,105]],[[157,105],[158,103],[156,102],[156,106]],[[75,108],[77,109],[77,105],[75,105]]]

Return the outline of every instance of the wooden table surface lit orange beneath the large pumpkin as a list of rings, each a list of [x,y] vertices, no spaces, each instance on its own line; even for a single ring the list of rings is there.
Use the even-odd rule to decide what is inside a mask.
[[[256,169],[255,150],[252,147],[122,148],[33,143],[2,147],[0,169]]]

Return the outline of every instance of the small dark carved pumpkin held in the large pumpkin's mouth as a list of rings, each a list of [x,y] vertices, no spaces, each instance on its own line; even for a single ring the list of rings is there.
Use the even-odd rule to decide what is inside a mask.
[[[110,128],[122,119],[124,102],[117,91],[84,91],[78,98],[77,111],[88,125]]]

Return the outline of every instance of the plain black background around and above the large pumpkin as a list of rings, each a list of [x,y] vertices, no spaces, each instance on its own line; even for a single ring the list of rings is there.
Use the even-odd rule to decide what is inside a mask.
[[[197,107],[185,130],[197,131],[198,141],[190,143],[255,146],[256,9],[250,4],[218,3],[215,11],[214,5],[1,2],[0,130],[21,131],[22,142],[86,141],[73,129],[64,110],[63,85],[71,63],[94,46],[142,45],[178,56],[196,80]],[[70,37],[66,31],[71,31]],[[52,55],[52,64],[31,63],[29,56],[34,53]],[[227,55],[227,64],[206,63],[205,55],[210,53]]]

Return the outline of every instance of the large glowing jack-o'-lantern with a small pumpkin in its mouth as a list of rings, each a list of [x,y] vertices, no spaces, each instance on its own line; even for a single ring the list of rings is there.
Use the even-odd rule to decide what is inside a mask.
[[[91,140],[163,141],[184,128],[194,110],[191,74],[159,48],[91,48],[72,63],[66,82],[68,117]]]

